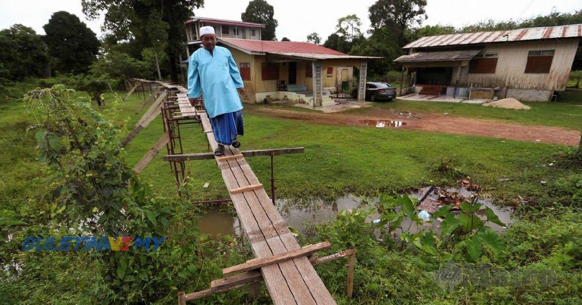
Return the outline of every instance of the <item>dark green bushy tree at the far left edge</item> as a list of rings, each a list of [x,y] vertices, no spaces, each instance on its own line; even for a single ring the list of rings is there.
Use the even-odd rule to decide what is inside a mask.
[[[0,31],[0,63],[9,80],[45,76],[47,62],[47,45],[32,28],[14,24]]]

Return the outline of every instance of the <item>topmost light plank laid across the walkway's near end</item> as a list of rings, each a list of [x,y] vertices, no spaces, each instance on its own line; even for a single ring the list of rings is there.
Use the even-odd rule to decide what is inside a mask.
[[[327,249],[329,247],[331,247],[331,243],[329,243],[329,242],[320,242],[320,243],[315,243],[314,245],[307,245],[307,246],[301,247],[299,249],[290,250],[290,251],[285,252],[285,253],[276,254],[274,256],[269,256],[269,257],[264,257],[263,259],[253,259],[253,260],[249,260],[243,264],[234,265],[234,266],[231,266],[228,268],[224,268],[224,269],[222,269],[222,274],[226,276],[226,275],[234,274],[236,272],[256,270],[256,269],[258,269],[262,266],[265,266],[265,265],[278,263],[279,261],[294,259],[295,257],[307,256],[311,253],[315,253],[315,252]]]

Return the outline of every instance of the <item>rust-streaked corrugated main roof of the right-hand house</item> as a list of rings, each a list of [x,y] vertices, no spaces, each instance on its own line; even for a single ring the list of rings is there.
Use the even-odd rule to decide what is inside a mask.
[[[416,41],[410,42],[410,44],[407,44],[402,48],[427,48],[443,45],[470,45],[484,44],[488,42],[526,41],[574,37],[582,37],[582,24],[570,24],[568,26],[555,27],[519,28],[517,30],[509,31],[489,31],[425,36],[418,38]]]

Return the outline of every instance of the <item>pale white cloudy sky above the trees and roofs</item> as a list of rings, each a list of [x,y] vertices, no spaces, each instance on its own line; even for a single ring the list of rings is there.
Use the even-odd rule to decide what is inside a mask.
[[[304,41],[307,34],[315,31],[325,38],[335,31],[339,17],[356,14],[362,20],[365,33],[370,28],[368,8],[374,0],[267,0],[275,8],[279,21],[276,35],[279,40],[288,37],[292,41]],[[197,16],[240,20],[248,2],[244,0],[206,0],[204,8],[197,9]],[[81,12],[80,0],[0,0],[0,29],[14,23],[22,23],[44,34],[42,26],[52,13],[66,10],[73,13],[97,35],[101,35],[102,20],[88,21]],[[576,0],[428,0],[428,19],[423,24],[464,26],[484,19],[519,19],[552,10],[573,12],[582,9]]]

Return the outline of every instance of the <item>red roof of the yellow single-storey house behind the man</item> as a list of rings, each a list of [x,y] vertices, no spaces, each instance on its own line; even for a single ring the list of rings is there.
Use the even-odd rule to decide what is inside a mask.
[[[218,40],[250,52],[346,55],[345,53],[325,48],[325,46],[312,44],[311,42],[246,40],[237,38],[218,38]]]

